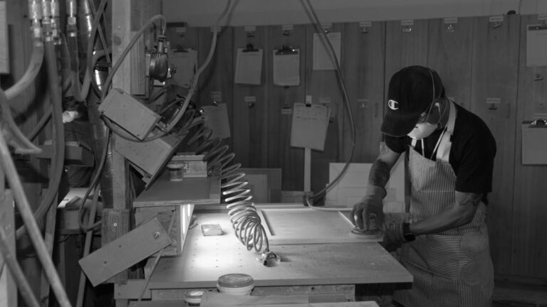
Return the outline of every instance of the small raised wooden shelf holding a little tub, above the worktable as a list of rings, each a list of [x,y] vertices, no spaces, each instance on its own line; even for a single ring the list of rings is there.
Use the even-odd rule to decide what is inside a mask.
[[[218,177],[184,178],[170,181],[169,173],[162,173],[150,188],[133,201],[133,207],[165,205],[202,205],[220,203]]]

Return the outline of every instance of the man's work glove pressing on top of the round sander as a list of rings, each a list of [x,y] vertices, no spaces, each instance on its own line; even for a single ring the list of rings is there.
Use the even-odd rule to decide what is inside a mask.
[[[363,200],[353,205],[351,218],[353,225],[359,229],[375,229],[384,223],[382,199],[385,198],[385,188],[378,185],[368,185]],[[371,225],[370,220],[375,224]]]

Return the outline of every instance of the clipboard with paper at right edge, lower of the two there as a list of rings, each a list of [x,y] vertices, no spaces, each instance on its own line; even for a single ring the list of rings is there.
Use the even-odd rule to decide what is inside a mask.
[[[547,165],[547,123],[545,119],[522,122],[521,163]]]

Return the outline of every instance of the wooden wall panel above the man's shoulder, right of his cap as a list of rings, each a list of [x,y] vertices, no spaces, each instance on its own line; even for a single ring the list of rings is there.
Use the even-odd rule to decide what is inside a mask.
[[[457,23],[449,23],[457,20]],[[437,18],[429,20],[427,65],[441,77],[447,97],[469,109],[473,18]],[[447,27],[452,28],[447,30]],[[452,29],[452,30],[450,30]],[[441,89],[436,89],[439,95]]]

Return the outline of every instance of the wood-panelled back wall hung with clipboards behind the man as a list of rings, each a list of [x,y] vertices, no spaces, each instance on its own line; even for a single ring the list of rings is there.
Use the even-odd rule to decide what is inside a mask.
[[[374,161],[382,140],[380,124],[390,77],[408,65],[427,65],[441,76],[447,96],[481,117],[494,134],[497,154],[487,222],[497,274],[547,277],[547,166],[521,165],[521,122],[547,113],[547,68],[526,67],[526,24],[537,16],[504,16],[501,25],[488,17],[459,18],[454,31],[444,19],[416,20],[409,31],[400,21],[373,22],[363,32],[358,23],[334,23],[342,33],[340,63],[355,122],[353,162]],[[187,29],[200,63],[211,41],[209,28]],[[283,190],[303,189],[303,149],[290,146],[295,102],[312,95],[313,103],[330,102],[325,151],[312,153],[312,189],[328,183],[328,163],[343,162],[352,146],[350,119],[335,72],[312,70],[313,25],[261,26],[248,37],[243,27],[224,29],[214,65],[200,80],[199,104],[210,104],[210,92],[221,91],[229,105],[236,161],[244,167],[281,168]],[[288,34],[288,35],[287,35]],[[264,48],[262,84],[234,85],[237,48],[253,43]],[[277,87],[271,82],[271,50],[288,43],[301,50],[301,85]],[[546,76],[547,77],[547,76]],[[245,97],[254,96],[254,106]],[[499,98],[492,107],[487,98]]]

